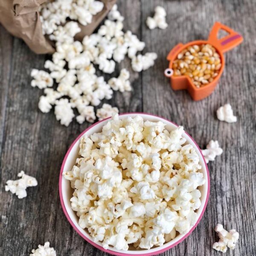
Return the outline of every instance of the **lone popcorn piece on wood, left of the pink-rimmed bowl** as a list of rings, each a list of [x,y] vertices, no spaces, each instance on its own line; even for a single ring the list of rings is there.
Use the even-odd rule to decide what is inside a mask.
[[[26,188],[37,186],[38,182],[34,177],[26,175],[23,171],[18,173],[18,180],[7,180],[5,190],[17,195],[19,199],[27,196]]]

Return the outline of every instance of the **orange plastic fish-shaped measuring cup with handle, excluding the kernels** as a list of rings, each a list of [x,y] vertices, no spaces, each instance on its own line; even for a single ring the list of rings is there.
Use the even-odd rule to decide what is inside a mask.
[[[224,38],[218,39],[218,32],[223,29],[229,35],[225,36]],[[170,61],[169,68],[165,70],[165,76],[171,79],[171,86],[173,90],[188,90],[189,94],[191,95],[193,100],[201,100],[209,96],[213,90],[215,89],[216,85],[218,84],[218,80],[221,77],[221,74],[224,70],[225,65],[225,58],[224,52],[227,52],[230,49],[233,49],[237,45],[241,44],[243,38],[237,32],[233,31],[227,26],[216,22],[212,27],[212,31],[209,34],[209,38],[207,41],[199,40],[199,41],[192,41],[188,44],[177,44],[171,52],[169,52],[167,56],[167,60]],[[193,81],[190,79],[189,76],[172,76],[172,64],[173,61],[177,58],[177,55],[191,45],[200,45],[200,44],[211,44],[218,52],[221,58],[221,69],[219,70],[218,76],[210,82],[200,88],[196,87],[193,84]]]

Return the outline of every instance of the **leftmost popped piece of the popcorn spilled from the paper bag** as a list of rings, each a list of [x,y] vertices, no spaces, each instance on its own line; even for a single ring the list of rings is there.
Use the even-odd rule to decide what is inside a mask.
[[[44,70],[32,69],[31,76],[33,80],[31,81],[32,87],[38,87],[39,89],[44,89],[46,87],[52,87],[53,80],[49,73]]]

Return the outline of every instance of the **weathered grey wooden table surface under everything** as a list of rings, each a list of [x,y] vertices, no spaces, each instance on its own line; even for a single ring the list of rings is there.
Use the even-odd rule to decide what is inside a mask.
[[[146,43],[145,51],[157,52],[153,68],[132,73],[134,90],[114,93],[111,104],[120,113],[141,111],[163,116],[183,125],[204,148],[218,140],[223,154],[209,163],[211,179],[206,212],[193,233],[162,256],[221,255],[213,250],[218,240],[214,226],[236,228],[240,239],[230,256],[256,255],[256,1],[255,0],[118,0],[130,29]],[[149,30],[146,17],[154,7],[168,13],[166,30]],[[244,36],[244,42],[227,52],[226,67],[215,92],[194,102],[186,91],[173,91],[163,76],[166,55],[179,42],[207,39],[215,21]],[[75,121],[66,128],[38,110],[39,89],[30,86],[32,68],[43,69],[46,55],[34,54],[20,39],[0,26],[0,255],[27,256],[38,244],[49,241],[58,256],[102,256],[68,223],[58,195],[58,176],[72,141],[89,126]],[[130,61],[118,66],[131,70]],[[110,76],[105,76],[108,79]],[[225,103],[233,106],[238,122],[216,118]],[[18,199],[5,192],[6,180],[17,173],[36,177],[38,186]]]

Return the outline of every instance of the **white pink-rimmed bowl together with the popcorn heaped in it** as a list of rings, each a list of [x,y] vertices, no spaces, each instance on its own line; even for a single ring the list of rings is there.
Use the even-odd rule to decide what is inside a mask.
[[[87,128],[61,166],[64,213],[79,235],[113,255],[156,255],[201,220],[209,172],[182,126],[146,113]]]

